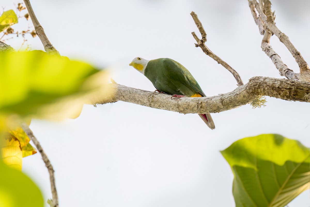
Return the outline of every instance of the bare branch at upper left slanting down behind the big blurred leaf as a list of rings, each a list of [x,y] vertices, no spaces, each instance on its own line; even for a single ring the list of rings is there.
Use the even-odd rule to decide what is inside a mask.
[[[29,16],[32,20],[34,29],[36,30],[36,33],[38,34],[43,46],[44,46],[44,50],[48,53],[48,54],[57,54],[59,55],[59,52],[56,50],[56,48],[52,45],[52,43],[48,40],[43,27],[40,25],[36,15],[34,14],[34,11],[32,9],[32,6],[30,4],[29,0],[24,0],[25,5],[27,7],[27,10],[29,12]]]

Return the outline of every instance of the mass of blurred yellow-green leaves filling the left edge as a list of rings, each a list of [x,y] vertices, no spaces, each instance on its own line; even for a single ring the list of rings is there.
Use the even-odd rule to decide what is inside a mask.
[[[76,118],[84,103],[108,95],[107,80],[106,71],[67,57],[0,53],[0,206],[43,206],[38,187],[20,172],[22,157],[36,149],[19,122]]]

